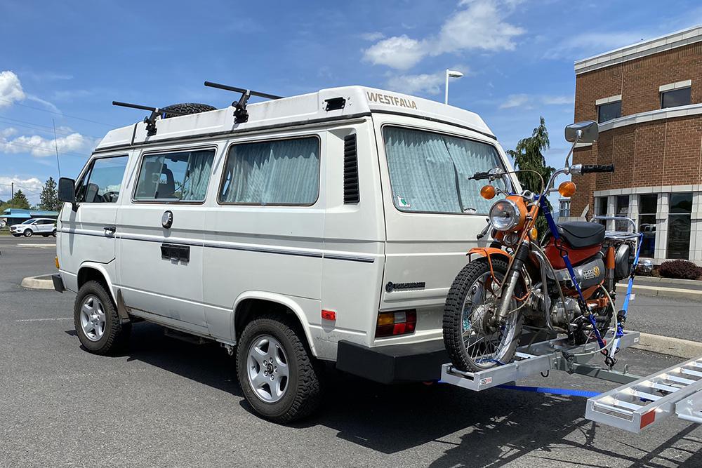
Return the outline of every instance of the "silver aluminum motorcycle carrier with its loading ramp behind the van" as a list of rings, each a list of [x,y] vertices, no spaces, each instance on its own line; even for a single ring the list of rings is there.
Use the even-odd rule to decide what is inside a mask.
[[[608,342],[612,334],[610,331],[605,337]],[[639,332],[625,332],[619,349],[635,345],[639,339]],[[623,372],[618,372],[589,364],[596,356],[602,357],[597,342],[573,346],[567,339],[557,338],[519,347],[511,363],[476,373],[464,372],[446,363],[442,366],[442,382],[479,392],[535,373],[544,375],[550,370],[562,370],[571,375],[588,375],[623,384],[588,399],[585,417],[589,420],[634,433],[672,414],[702,424],[702,356],[647,377],[628,373],[626,366]],[[544,389],[543,392],[552,393],[549,390],[557,389]]]

